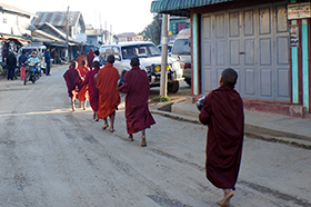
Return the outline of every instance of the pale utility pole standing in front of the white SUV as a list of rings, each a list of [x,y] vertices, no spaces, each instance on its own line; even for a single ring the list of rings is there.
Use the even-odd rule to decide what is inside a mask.
[[[160,96],[168,96],[168,14],[162,16],[162,58],[161,58],[161,79]]]

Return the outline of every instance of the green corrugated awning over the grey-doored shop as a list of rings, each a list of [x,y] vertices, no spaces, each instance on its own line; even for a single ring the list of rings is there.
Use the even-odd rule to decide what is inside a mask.
[[[190,9],[215,3],[223,3],[231,0],[154,0],[151,3],[152,13],[168,13],[177,16],[190,16]]]

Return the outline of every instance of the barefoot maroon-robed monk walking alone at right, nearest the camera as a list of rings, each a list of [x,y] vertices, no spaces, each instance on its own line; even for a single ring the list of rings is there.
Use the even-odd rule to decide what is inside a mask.
[[[222,71],[220,87],[212,90],[202,101],[200,122],[208,125],[207,178],[218,188],[223,189],[223,198],[217,204],[230,205],[239,175],[243,131],[243,101],[234,85],[238,73],[228,68]]]

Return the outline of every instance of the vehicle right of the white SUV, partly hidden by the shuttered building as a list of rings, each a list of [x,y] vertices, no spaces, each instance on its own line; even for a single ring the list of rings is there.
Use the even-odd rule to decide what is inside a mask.
[[[191,86],[191,34],[190,29],[180,30],[177,34],[171,58],[180,62],[183,69],[184,81]]]

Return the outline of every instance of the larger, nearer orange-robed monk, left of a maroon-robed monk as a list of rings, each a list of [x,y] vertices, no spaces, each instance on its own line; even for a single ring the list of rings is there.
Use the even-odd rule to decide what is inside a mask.
[[[102,129],[109,127],[107,117],[110,118],[110,132],[114,131],[113,124],[116,110],[121,101],[117,89],[119,72],[117,68],[113,67],[113,63],[114,56],[108,56],[106,66],[99,70],[97,76],[97,87],[99,89],[98,118],[104,120]]]

